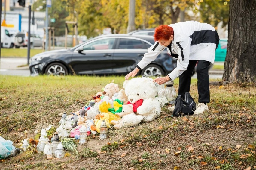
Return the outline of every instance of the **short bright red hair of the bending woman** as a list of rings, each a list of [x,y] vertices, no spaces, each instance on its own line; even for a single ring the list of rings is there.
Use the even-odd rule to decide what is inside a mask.
[[[158,40],[168,41],[170,39],[171,35],[174,35],[172,27],[170,27],[168,25],[159,25],[155,29],[154,39],[155,39],[155,41],[158,41]]]

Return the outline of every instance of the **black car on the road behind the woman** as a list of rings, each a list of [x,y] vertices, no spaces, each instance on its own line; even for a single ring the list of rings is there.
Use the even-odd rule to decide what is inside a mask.
[[[110,34],[95,37],[71,49],[47,51],[30,60],[31,75],[126,75],[154,44],[154,37]],[[169,74],[177,60],[164,50],[138,74],[160,76]]]

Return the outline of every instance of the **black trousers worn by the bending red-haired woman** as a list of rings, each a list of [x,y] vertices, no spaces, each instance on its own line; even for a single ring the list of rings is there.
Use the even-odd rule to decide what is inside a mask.
[[[216,49],[219,45],[219,35],[215,31]],[[209,69],[211,64],[209,61],[204,60],[189,60],[187,70],[184,71],[179,77],[178,95],[184,96],[186,92],[190,91],[192,72],[197,65],[197,92],[199,103],[210,102],[210,87],[209,87]]]

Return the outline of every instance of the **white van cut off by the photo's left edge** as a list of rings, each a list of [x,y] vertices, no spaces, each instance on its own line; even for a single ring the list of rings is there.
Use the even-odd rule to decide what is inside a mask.
[[[13,48],[14,37],[9,34],[7,27],[1,27],[1,48]]]

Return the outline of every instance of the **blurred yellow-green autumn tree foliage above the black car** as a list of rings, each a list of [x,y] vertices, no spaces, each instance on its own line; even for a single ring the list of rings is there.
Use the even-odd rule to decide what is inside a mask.
[[[35,2],[42,5],[43,0]],[[227,1],[228,4],[224,5]],[[187,20],[206,22],[216,27],[223,22],[227,25],[229,18],[229,0],[136,0],[136,29],[155,28],[158,25]],[[194,11],[194,12],[193,12]],[[58,0],[52,1],[49,8],[50,17],[56,18],[57,36],[65,34],[65,21],[77,21],[79,35],[88,38],[102,34],[104,28],[112,33],[126,33],[129,16],[129,0]],[[72,34],[72,33],[69,33]]]

